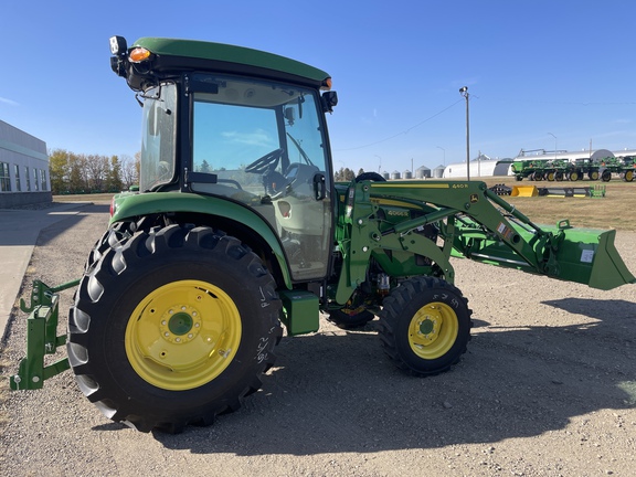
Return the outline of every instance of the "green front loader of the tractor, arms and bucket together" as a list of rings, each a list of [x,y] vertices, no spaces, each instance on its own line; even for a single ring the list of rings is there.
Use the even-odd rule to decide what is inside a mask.
[[[382,212],[389,202],[416,210],[417,216],[389,222]],[[427,224],[439,230],[437,243],[417,233]],[[636,283],[614,246],[615,231],[573,229],[566,220],[539,226],[481,181],[352,183],[344,225],[349,232],[339,245],[348,269],[340,277],[338,303],[364,280],[370,256],[400,250],[433,259],[435,272],[451,283],[451,256],[601,289]]]

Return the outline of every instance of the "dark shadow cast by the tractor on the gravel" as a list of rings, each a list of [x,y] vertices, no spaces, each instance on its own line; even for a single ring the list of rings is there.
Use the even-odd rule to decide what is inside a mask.
[[[634,318],[635,305],[551,305],[600,321],[513,329],[481,321],[464,360],[427,379],[389,362],[374,322],[347,336],[286,338],[277,368],[243,409],[211,427],[155,438],[197,454],[375,453],[538,436],[575,416],[632,409],[636,327],[624,317]]]

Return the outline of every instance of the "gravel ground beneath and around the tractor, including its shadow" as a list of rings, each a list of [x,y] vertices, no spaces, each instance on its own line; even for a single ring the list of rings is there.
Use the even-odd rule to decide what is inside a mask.
[[[25,286],[78,277],[106,223],[97,204],[44,230]],[[633,272],[635,240],[618,233]],[[283,339],[263,390],[241,410],[166,435],[108,421],[65,372],[43,391],[3,391],[0,475],[636,475],[636,286],[600,292],[468,261],[455,267],[475,328],[448,373],[399,372],[375,321],[347,332],[322,320],[317,333]],[[63,294],[62,320],[71,298]],[[3,350],[6,377],[23,356],[24,318]]]

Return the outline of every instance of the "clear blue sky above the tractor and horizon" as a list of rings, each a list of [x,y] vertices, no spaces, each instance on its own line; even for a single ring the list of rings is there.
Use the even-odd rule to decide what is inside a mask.
[[[141,110],[108,38],[216,41],[331,74],[335,167],[636,148],[633,0],[4,2],[0,119],[49,149],[134,156]]]

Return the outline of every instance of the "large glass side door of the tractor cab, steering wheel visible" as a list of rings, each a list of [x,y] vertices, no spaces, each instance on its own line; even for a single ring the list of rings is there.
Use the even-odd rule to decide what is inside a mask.
[[[318,92],[193,74],[191,190],[244,203],[276,231],[295,282],[327,276],[331,167]]]

